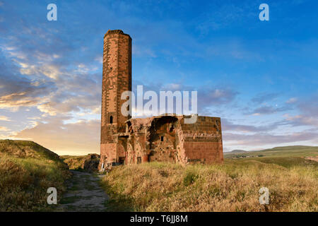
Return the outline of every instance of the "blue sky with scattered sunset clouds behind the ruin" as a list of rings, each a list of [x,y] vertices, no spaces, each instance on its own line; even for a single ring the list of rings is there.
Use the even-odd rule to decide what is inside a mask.
[[[47,5],[57,4],[57,21]],[[259,5],[269,5],[269,21]],[[0,138],[98,153],[102,42],[133,40],[133,88],[198,90],[224,150],[318,144],[317,1],[0,0]]]

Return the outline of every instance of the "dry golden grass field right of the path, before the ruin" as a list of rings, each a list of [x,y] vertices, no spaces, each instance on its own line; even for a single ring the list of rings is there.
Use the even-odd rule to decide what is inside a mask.
[[[125,165],[103,184],[113,210],[317,212],[318,162],[308,159],[314,156],[317,147],[293,146],[232,153],[222,165]],[[263,186],[268,206],[259,204]]]

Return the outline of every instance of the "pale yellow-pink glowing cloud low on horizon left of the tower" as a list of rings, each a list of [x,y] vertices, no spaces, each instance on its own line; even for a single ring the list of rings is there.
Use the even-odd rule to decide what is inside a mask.
[[[37,122],[32,128],[23,129],[11,138],[28,139],[53,150],[69,154],[99,153],[100,120],[78,120],[64,124],[64,118],[52,117],[47,123]]]

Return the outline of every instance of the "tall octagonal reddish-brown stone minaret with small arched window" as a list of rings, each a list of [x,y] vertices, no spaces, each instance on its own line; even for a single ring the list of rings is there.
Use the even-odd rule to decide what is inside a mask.
[[[122,30],[108,30],[102,59],[100,162],[118,162],[117,133],[125,132],[125,121],[131,118],[121,113],[126,90],[131,91],[131,37]]]

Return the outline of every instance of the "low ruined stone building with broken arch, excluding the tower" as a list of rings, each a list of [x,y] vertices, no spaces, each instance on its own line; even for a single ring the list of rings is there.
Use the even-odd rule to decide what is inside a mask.
[[[183,116],[131,119],[128,164],[141,162],[223,162],[220,118],[198,117],[184,124]],[[133,156],[131,156],[133,155]]]

